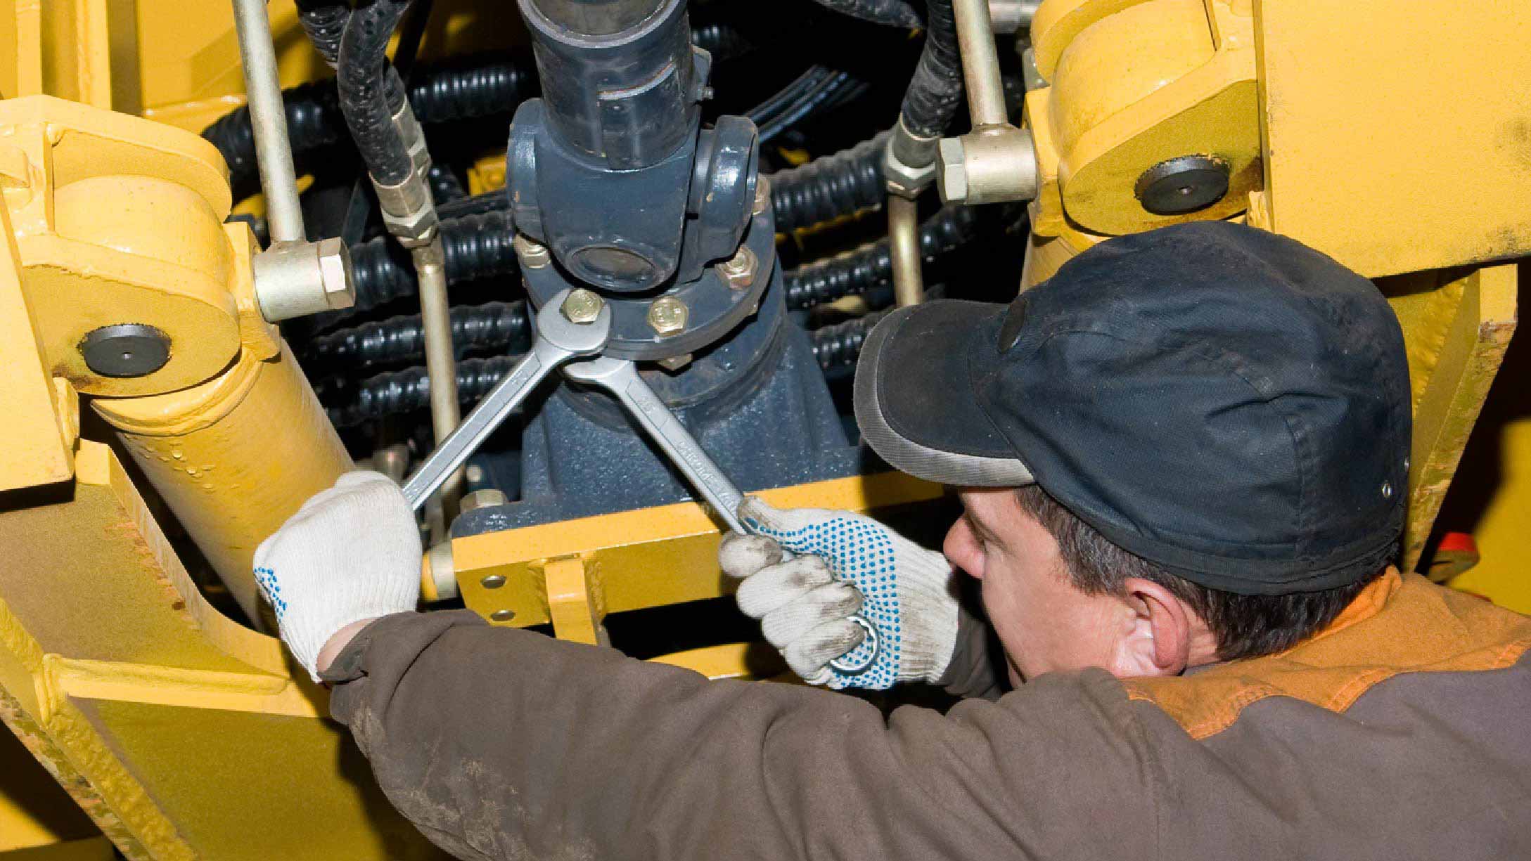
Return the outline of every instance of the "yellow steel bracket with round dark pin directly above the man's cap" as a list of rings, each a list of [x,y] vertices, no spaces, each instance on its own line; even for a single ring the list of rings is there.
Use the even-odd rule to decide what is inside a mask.
[[[1026,99],[1040,176],[1032,229],[1082,239],[1243,211],[1262,184],[1254,41],[1248,3],[1044,3],[1032,44],[1050,86]],[[1228,193],[1190,214],[1147,211],[1138,179],[1180,156],[1223,161]]]

